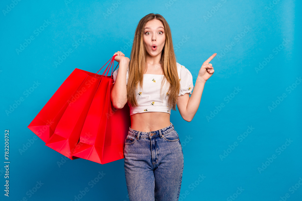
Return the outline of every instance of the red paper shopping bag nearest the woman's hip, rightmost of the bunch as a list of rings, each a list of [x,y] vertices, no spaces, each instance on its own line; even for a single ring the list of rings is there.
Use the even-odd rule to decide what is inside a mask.
[[[97,163],[124,158],[125,139],[130,127],[130,108],[113,107],[110,100],[112,80],[103,77],[90,105],[73,156]],[[106,92],[106,93],[105,93]]]

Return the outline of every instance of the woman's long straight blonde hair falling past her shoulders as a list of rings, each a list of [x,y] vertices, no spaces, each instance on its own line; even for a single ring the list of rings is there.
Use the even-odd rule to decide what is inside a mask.
[[[169,108],[176,110],[176,100],[180,90],[180,82],[177,73],[176,58],[172,43],[172,34],[169,24],[160,14],[150,13],[146,15],[139,21],[135,30],[133,46],[130,54],[127,99],[128,103],[132,107],[139,106],[137,103],[135,90],[137,89],[138,83],[140,83],[140,87],[143,88],[143,76],[146,68],[146,57],[148,54],[143,40],[144,27],[148,21],[154,19],[160,20],[164,25],[165,45],[162,49],[160,63],[162,64],[164,73],[163,77],[165,78],[163,80],[169,83],[168,106]],[[164,82],[162,82],[162,85],[163,83]]]

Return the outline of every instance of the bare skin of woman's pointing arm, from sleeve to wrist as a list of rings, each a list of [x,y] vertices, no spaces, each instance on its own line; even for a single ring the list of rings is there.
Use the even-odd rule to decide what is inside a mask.
[[[195,116],[201,101],[205,83],[204,79],[198,76],[191,96],[189,96],[188,93],[178,96],[176,101],[177,108],[185,121],[190,122]]]

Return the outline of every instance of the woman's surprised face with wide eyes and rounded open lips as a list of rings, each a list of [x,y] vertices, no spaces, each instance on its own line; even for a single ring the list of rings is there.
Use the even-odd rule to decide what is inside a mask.
[[[144,44],[147,52],[152,57],[161,55],[165,45],[164,25],[155,19],[147,22],[144,28]]]

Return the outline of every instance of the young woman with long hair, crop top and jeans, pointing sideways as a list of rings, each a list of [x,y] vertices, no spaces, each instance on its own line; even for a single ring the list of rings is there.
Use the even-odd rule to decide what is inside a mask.
[[[167,21],[150,13],[138,23],[131,60],[120,51],[114,55],[119,68],[113,73],[111,101],[115,108],[130,107],[124,149],[129,200],[178,200],[184,158],[171,109],[177,104],[185,121],[193,119],[204,84],[214,73],[209,62],[216,53],[202,64],[192,93],[192,75],[176,62]]]

